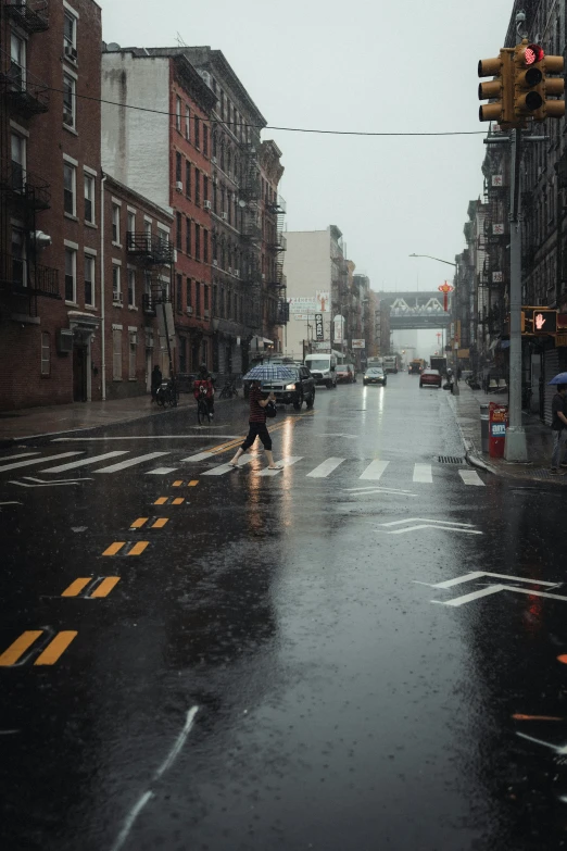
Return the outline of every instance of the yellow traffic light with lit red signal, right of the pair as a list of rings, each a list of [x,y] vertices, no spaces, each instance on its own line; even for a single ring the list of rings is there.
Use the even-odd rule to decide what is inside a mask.
[[[560,118],[565,114],[565,102],[551,100],[550,96],[562,95],[563,79],[550,78],[549,74],[563,72],[563,57],[546,57],[540,45],[529,43],[525,38],[514,49],[514,122],[525,126],[526,120],[544,121]]]

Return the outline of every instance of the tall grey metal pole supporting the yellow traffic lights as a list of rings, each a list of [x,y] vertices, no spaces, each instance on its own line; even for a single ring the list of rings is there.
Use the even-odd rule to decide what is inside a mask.
[[[504,458],[526,462],[528,446],[521,425],[521,224],[519,218],[521,130],[511,134],[509,184],[509,423]]]

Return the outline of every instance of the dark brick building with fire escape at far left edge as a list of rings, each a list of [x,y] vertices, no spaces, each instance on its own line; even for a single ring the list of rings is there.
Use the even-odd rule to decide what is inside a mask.
[[[92,0],[2,2],[3,410],[101,397],[100,38]]]

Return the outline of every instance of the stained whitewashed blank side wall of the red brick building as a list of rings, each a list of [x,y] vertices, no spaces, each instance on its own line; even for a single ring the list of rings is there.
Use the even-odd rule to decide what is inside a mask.
[[[102,170],[164,210],[169,204],[169,60],[102,54]]]

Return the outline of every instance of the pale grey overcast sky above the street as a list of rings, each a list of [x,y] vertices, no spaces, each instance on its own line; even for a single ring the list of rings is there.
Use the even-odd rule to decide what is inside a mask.
[[[477,62],[497,54],[512,0],[99,0],[122,47],[224,52],[268,124],[401,133],[479,130]],[[482,191],[482,136],[355,138],[266,130],[284,152],[289,230],[336,224],[373,288],[437,289]]]

